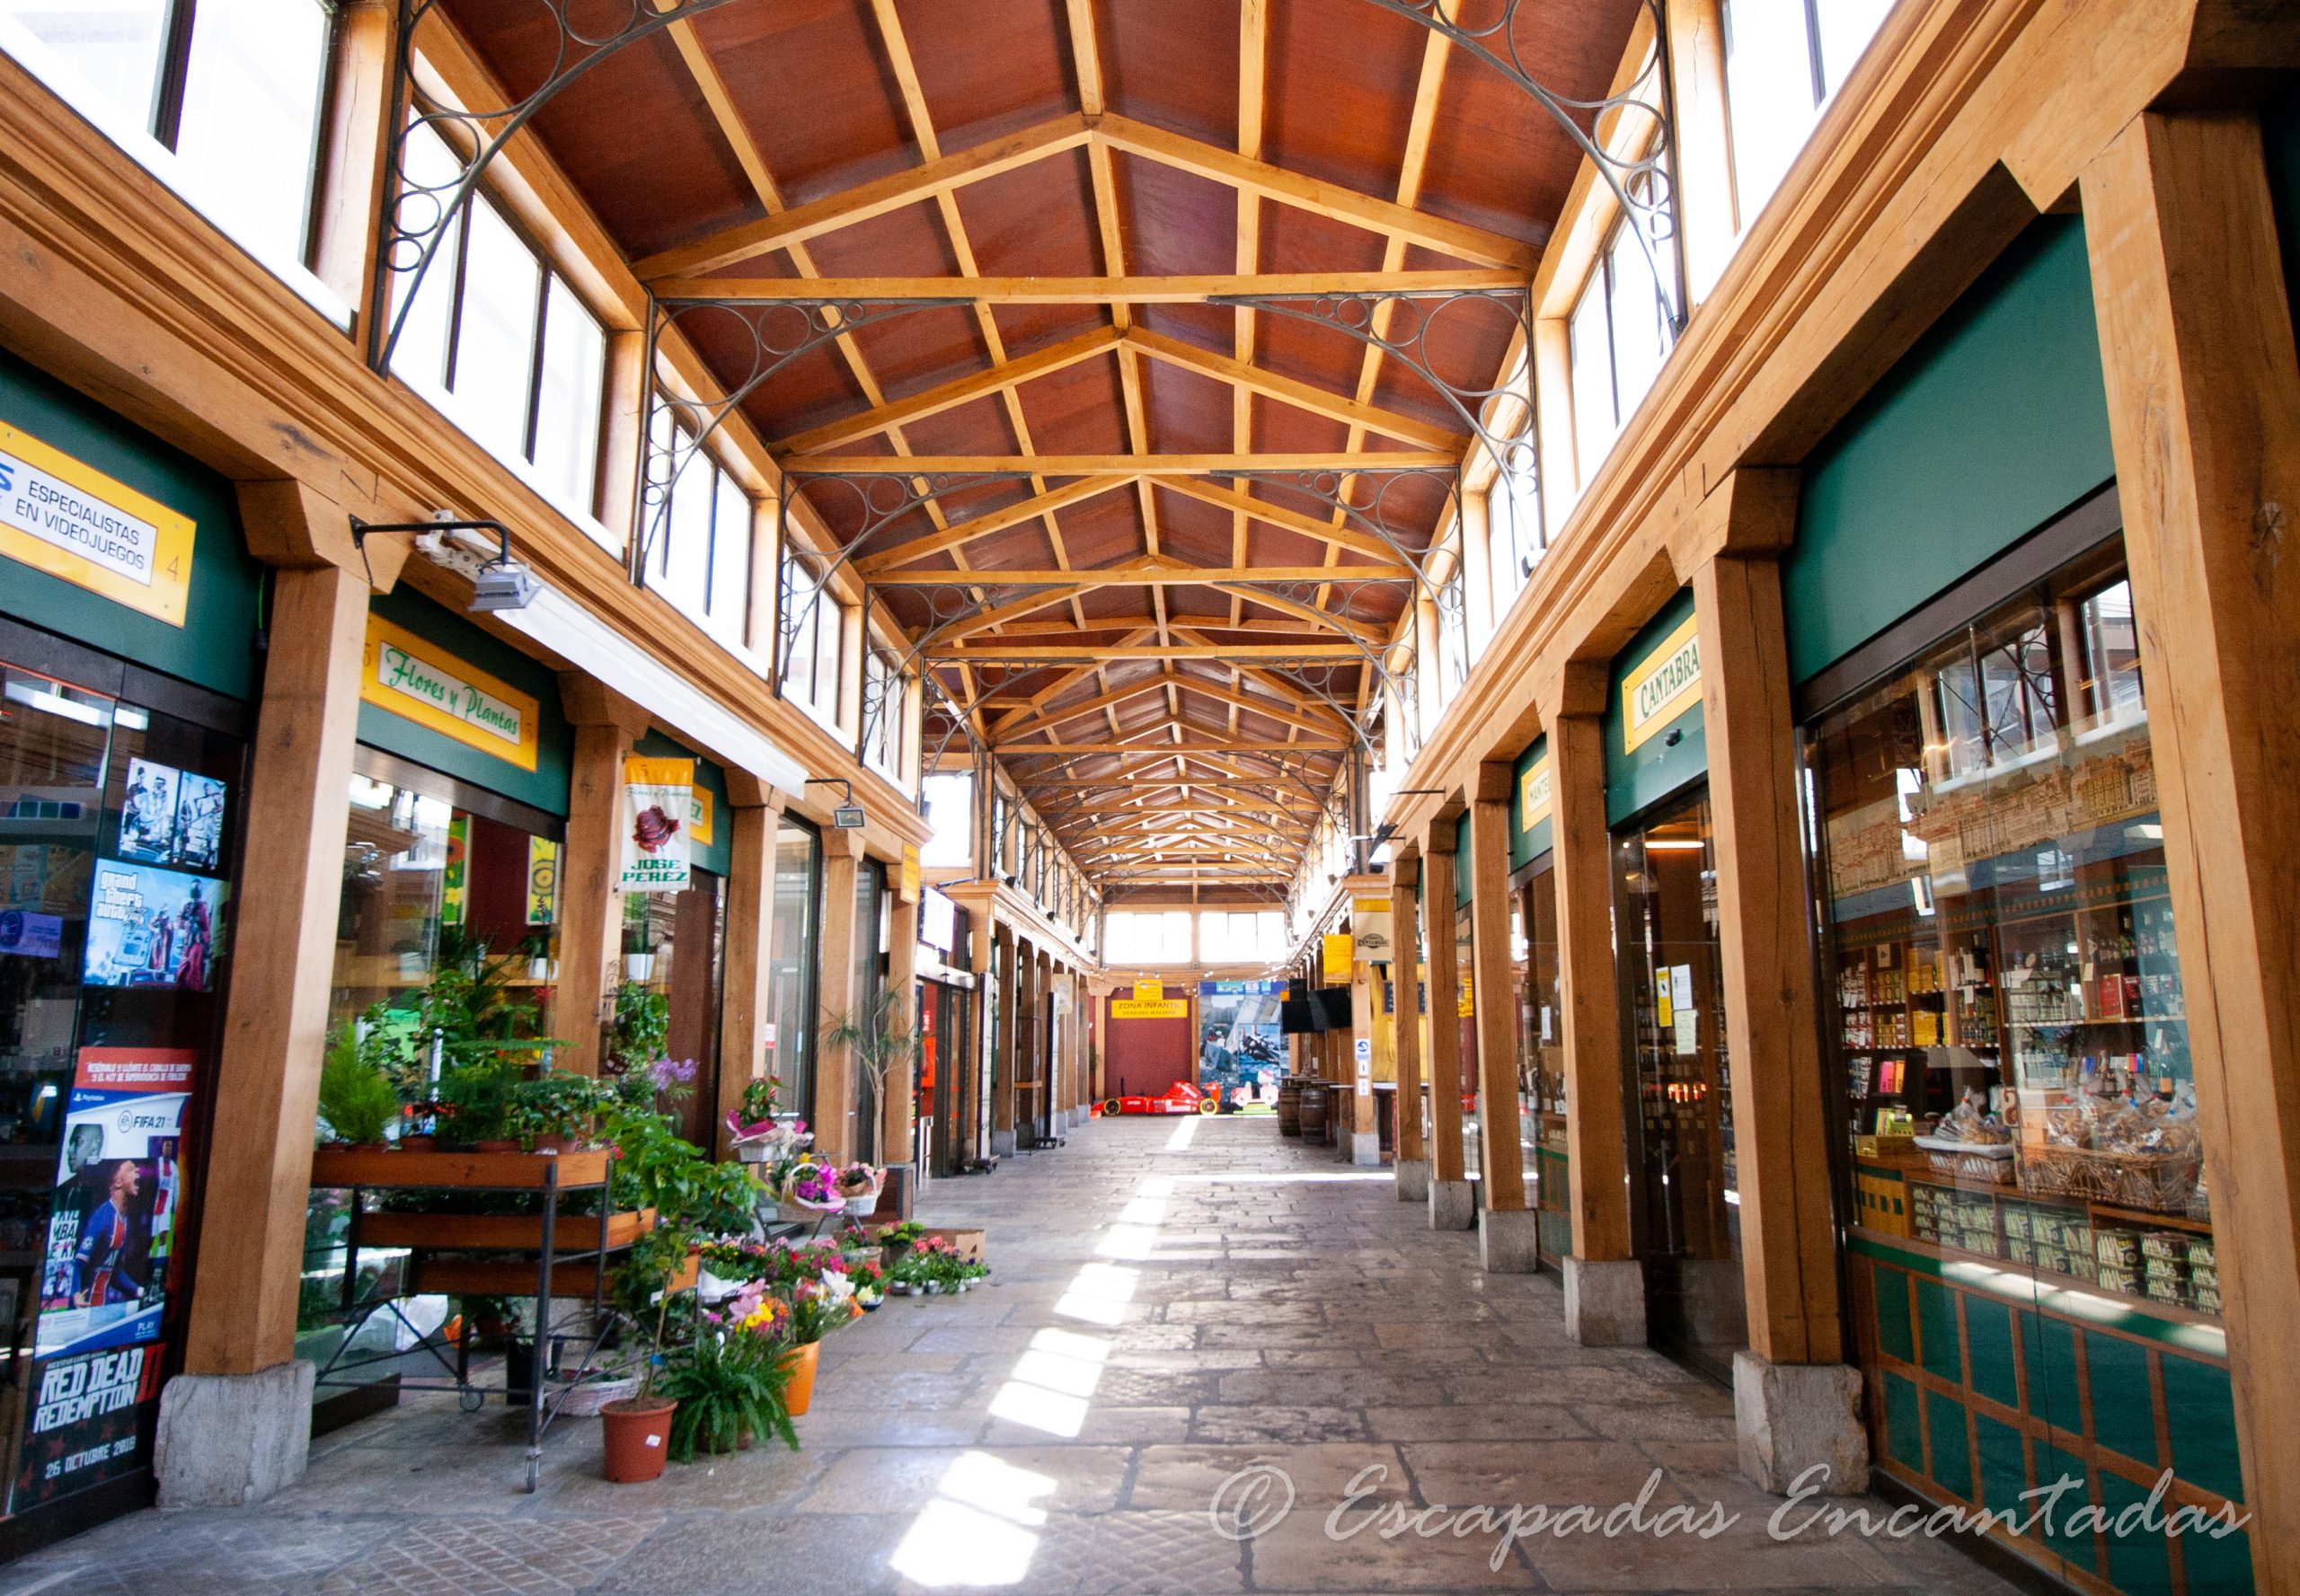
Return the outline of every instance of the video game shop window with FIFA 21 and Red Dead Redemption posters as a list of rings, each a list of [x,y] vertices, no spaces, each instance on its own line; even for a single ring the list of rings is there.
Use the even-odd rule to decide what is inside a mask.
[[[39,655],[71,672],[80,651]],[[186,718],[237,724],[239,706],[85,662],[110,690],[0,660],[9,1548],[150,1499],[246,819],[246,743]]]

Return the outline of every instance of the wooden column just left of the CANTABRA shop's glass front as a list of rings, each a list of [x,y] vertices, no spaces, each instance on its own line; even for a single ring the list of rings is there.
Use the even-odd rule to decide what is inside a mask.
[[[1543,706],[1550,738],[1557,966],[1564,984],[1566,1200],[1573,1256],[1617,1263],[1628,1242],[1621,1010],[1612,968],[1605,828],[1605,669],[1573,665]],[[1562,713],[1550,706],[1564,706]]]

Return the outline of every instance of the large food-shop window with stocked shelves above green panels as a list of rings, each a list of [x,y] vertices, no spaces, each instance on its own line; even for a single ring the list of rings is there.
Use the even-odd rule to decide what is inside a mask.
[[[2121,543],[1808,727],[1877,1465],[2015,1509],[2238,1502],[2210,1194]],[[2249,1591],[2242,1534],[2015,1545]]]

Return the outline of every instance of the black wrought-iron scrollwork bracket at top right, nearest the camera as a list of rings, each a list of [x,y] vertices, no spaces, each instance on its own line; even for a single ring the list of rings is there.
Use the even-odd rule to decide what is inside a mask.
[[[1642,0],[1654,28],[1654,55],[1628,85],[1601,99],[1559,94],[1534,74],[1529,60],[1539,57],[1546,44],[1541,34],[1550,11],[1548,0],[1502,0],[1500,14],[1483,23],[1458,21],[1458,0],[1368,0],[1368,5],[1444,34],[1454,48],[1509,78],[1589,156],[1598,179],[1631,218],[1638,248],[1654,271],[1654,290],[1670,306],[1672,333],[1681,333],[1686,248],[1677,216],[1677,90],[1670,74],[1667,0]],[[1640,120],[1644,136],[1624,131],[1608,147],[1598,136],[1608,115]]]

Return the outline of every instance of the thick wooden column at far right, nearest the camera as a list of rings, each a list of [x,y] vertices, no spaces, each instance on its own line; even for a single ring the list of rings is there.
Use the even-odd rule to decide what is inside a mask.
[[[2300,1591],[2300,368],[2252,117],[2144,115],[2084,232],[2261,1591]],[[2284,1550],[2277,1550],[2284,1548]]]

